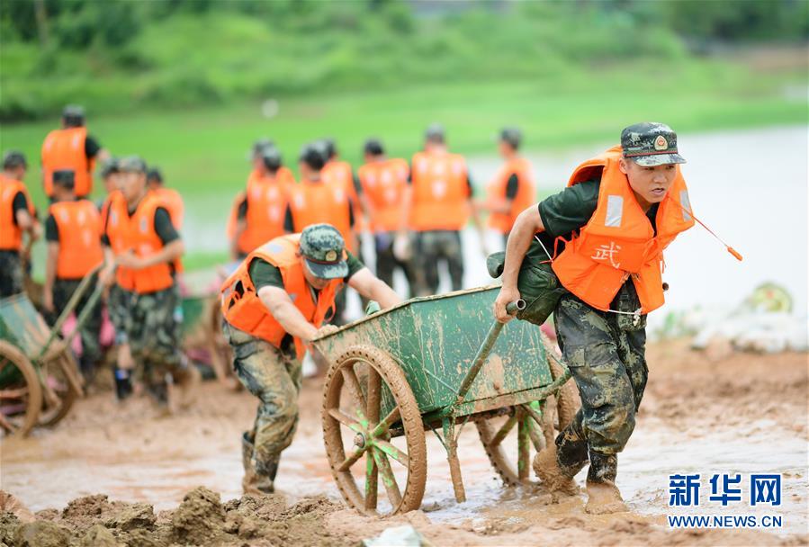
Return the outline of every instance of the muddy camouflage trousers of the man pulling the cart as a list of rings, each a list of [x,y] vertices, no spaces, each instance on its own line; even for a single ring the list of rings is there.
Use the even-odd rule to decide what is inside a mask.
[[[611,309],[637,309],[636,302],[634,286],[629,282]],[[581,398],[579,412],[556,444],[570,447],[569,453],[578,454],[574,459],[585,462],[588,448],[603,454],[619,453],[634,430],[635,413],[649,374],[646,318],[641,316],[635,324],[632,316],[598,311],[571,293],[562,296],[554,317],[562,355]],[[559,457],[562,460],[562,454]]]

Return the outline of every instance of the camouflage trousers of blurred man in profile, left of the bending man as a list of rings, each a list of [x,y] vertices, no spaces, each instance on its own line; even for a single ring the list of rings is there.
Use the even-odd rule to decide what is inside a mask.
[[[189,366],[180,351],[183,309],[176,284],[131,295],[126,333],[136,375],[158,402],[166,402],[166,379]]]

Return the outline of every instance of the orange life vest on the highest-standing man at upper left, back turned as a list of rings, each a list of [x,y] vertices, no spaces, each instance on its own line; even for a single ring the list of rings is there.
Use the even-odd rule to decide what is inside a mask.
[[[93,192],[94,159],[87,159],[85,141],[87,128],[71,127],[52,130],[42,143],[42,179],[45,194],[53,196],[53,172],[70,169],[74,175],[76,197],[85,197]]]

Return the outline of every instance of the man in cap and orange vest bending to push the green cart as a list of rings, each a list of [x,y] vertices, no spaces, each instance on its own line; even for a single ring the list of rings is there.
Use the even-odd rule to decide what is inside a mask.
[[[333,313],[343,283],[383,308],[400,302],[345,250],[340,232],[328,224],[258,247],[222,284],[223,331],[234,367],[260,401],[252,430],[242,435],[246,494],[274,491],[281,453],[298,422],[300,359]]]

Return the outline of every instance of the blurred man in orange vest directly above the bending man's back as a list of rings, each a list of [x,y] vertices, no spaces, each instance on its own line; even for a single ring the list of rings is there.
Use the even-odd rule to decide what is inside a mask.
[[[247,181],[244,199],[239,202],[236,226],[230,239],[232,256],[247,253],[270,239],[283,236],[283,219],[289,201],[290,184],[281,175],[283,158],[273,146],[261,148],[261,176]]]

